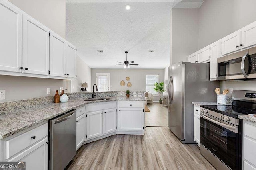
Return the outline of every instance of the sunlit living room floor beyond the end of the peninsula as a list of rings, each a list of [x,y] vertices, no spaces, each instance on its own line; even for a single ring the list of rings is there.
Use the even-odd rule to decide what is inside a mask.
[[[167,106],[159,103],[147,104],[150,112],[145,112],[145,125],[168,127]]]

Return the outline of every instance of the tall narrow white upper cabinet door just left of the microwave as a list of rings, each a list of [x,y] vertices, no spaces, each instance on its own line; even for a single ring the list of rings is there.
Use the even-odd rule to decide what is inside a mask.
[[[210,45],[210,80],[216,80],[217,78],[217,58],[220,57],[220,42]]]

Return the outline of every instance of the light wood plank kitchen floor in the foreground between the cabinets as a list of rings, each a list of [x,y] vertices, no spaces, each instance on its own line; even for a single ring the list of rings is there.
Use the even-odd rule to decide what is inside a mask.
[[[145,135],[113,135],[82,145],[66,167],[72,170],[214,169],[196,144],[182,144],[168,127],[146,127]]]

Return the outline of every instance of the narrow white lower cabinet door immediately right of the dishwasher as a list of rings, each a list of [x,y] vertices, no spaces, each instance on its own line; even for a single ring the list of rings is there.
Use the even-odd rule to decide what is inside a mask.
[[[85,126],[84,115],[76,118],[76,150],[84,142],[84,135],[85,135],[85,127],[84,126]]]

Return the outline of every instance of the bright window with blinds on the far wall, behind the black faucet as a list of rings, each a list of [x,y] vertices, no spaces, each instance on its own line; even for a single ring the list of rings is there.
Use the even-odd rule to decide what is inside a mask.
[[[96,84],[99,92],[110,91],[110,74],[96,73]]]

